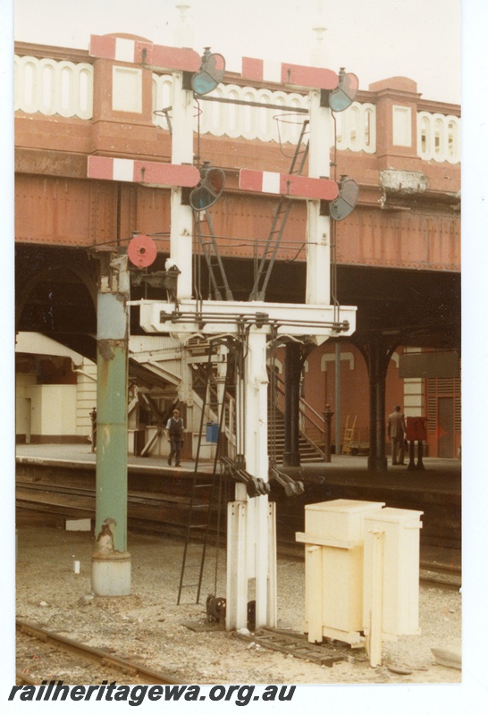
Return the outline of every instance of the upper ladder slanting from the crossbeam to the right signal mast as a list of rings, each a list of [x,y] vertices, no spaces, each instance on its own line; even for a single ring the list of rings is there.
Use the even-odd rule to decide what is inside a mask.
[[[307,126],[308,126],[308,120],[306,120],[302,124],[299,140],[297,142],[297,146],[295,147],[295,153],[291,160],[289,174],[291,174],[291,173],[300,174],[303,171],[303,168],[307,161],[308,147],[309,147],[308,142],[305,145],[305,148],[300,149],[302,142],[303,142],[303,138],[307,131]],[[300,155],[301,155],[301,159],[299,161]],[[299,161],[299,168],[295,169],[298,161]],[[261,260],[260,260],[259,266],[257,268],[255,282],[254,282],[253,288],[249,294],[249,300],[264,300],[265,299],[265,291],[266,291],[269,279],[271,277],[274,260],[276,258],[276,254],[278,252],[278,248],[280,247],[280,242],[282,240],[283,231],[285,229],[286,222],[287,222],[288,216],[290,214],[290,208],[291,208],[292,203],[293,203],[292,198],[290,198],[288,196],[280,197],[280,201],[278,203],[278,206],[277,206],[276,211],[273,216],[273,224],[271,226],[271,231],[269,232],[269,236],[265,242],[265,248],[263,249],[263,255],[261,256]],[[266,263],[267,263],[267,268],[266,268]]]

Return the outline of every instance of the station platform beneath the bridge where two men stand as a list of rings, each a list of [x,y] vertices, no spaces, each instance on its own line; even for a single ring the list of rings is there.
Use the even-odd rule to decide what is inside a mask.
[[[18,472],[49,467],[70,475],[94,475],[97,455],[87,444],[16,445]],[[282,487],[272,483],[271,499],[277,502],[278,533],[303,530],[307,503],[352,499],[382,501],[388,507],[414,509],[423,514],[421,547],[425,558],[436,562],[461,559],[461,462],[458,459],[424,458],[424,469],[391,466],[385,471],[368,471],[363,455],[332,455],[331,462],[307,462],[300,467],[280,470],[304,485],[304,492],[288,497]],[[22,468],[23,467],[23,468]],[[220,469],[217,466],[217,469]],[[214,470],[214,462],[201,460],[198,475],[204,478]],[[164,493],[171,484],[186,483],[194,474],[195,462],[170,467],[165,457],[128,458],[129,488]],[[92,476],[90,475],[90,479]]]

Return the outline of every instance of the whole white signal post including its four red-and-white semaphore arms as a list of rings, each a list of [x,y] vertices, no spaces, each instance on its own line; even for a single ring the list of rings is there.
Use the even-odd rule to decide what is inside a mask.
[[[321,200],[329,195],[329,156],[332,147],[332,115],[321,106],[321,89],[332,90],[338,85],[335,72],[321,68],[301,67],[282,63],[273,80],[290,88],[309,90],[309,176],[281,177],[264,172],[260,189],[307,200],[307,291],[304,304],[277,304],[263,301],[239,302],[196,300],[192,298],[192,242],[193,209],[181,203],[182,186],[195,185],[192,178],[178,174],[178,166],[195,172],[193,156],[194,96],[183,88],[183,70],[198,71],[199,58],[188,49],[154,46],[139,41],[115,41],[114,38],[92,38],[91,54],[121,58],[124,62],[144,63],[146,66],[167,67],[172,70],[172,166],[145,168],[144,176],[138,163],[94,159],[88,167],[93,178],[115,181],[151,179],[164,184],[168,172],[176,171],[178,179],[172,184],[171,197],[171,262],[178,274],[177,303],[141,300],[140,324],[147,332],[181,334],[188,339],[193,333],[229,335],[236,337],[245,324],[246,350],[244,375],[238,385],[238,409],[244,415],[238,433],[240,454],[245,458],[248,474],[268,482],[266,350],[272,332],[278,336],[300,339],[308,336],[320,344],[332,335],[350,335],[356,327],[356,307],[341,307],[341,323],[330,305],[330,220],[320,214]],[[122,54],[122,55],[121,55]],[[263,79],[267,67],[260,60],[244,60],[243,76]],[[265,169],[265,167],[264,167]],[[248,172],[249,173],[249,172]],[[252,172],[251,172],[252,173]],[[258,172],[254,172],[256,174]],[[251,177],[255,181],[256,176]],[[263,182],[264,180],[264,182]],[[327,180],[327,181],[323,181]],[[275,187],[278,189],[275,190]],[[283,186],[285,187],[283,189]],[[332,187],[333,191],[335,188]],[[325,194],[324,194],[325,191]],[[270,225],[272,216],[270,216]],[[237,421],[238,424],[240,420]],[[227,593],[226,627],[244,628],[248,624],[248,594],[255,581],[256,627],[276,626],[276,528],[273,503],[267,494],[249,497],[244,484],[236,484],[235,501],[229,505],[227,533]]]

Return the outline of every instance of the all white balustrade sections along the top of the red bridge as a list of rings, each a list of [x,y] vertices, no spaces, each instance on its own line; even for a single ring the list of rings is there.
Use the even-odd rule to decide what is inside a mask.
[[[93,65],[15,55],[16,111],[28,114],[59,114],[91,119],[93,116]],[[206,97],[273,105],[270,108],[195,100],[195,130],[231,139],[257,139],[296,144],[307,114],[307,96],[267,88],[221,84]],[[172,118],[172,76],[153,74],[154,122],[169,129]],[[282,110],[276,107],[283,107]],[[168,114],[161,110],[167,109]],[[295,111],[296,110],[296,111]],[[376,108],[372,103],[353,104],[334,114],[337,148],[374,154]],[[451,114],[417,113],[417,154],[425,161],[460,162],[460,119]],[[304,136],[307,141],[307,132]]]

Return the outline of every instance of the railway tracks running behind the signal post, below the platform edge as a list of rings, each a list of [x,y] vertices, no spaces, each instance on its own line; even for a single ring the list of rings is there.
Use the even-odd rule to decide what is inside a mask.
[[[189,495],[184,493],[185,488],[188,487],[182,484],[179,493],[130,490],[128,492],[129,528],[142,533],[182,537],[189,513]],[[59,520],[83,517],[94,519],[95,497],[95,489],[88,486],[21,479],[16,482],[17,509],[28,514],[41,513]],[[206,508],[205,498],[199,501],[196,509],[199,508]],[[303,559],[303,545],[294,540],[294,532],[299,530],[293,519],[286,520],[285,524],[278,524],[279,556]],[[215,529],[211,522],[209,536],[211,542],[214,541],[214,534]],[[461,568],[454,563],[441,564],[433,560],[421,560],[420,582],[424,585],[459,590]]]

